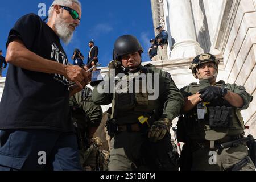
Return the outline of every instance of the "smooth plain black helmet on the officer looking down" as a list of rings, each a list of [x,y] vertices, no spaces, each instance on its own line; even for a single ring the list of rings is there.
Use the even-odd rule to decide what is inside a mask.
[[[140,53],[143,52],[143,48],[138,39],[133,35],[123,35],[115,41],[113,60],[121,61],[121,56],[137,51]]]

